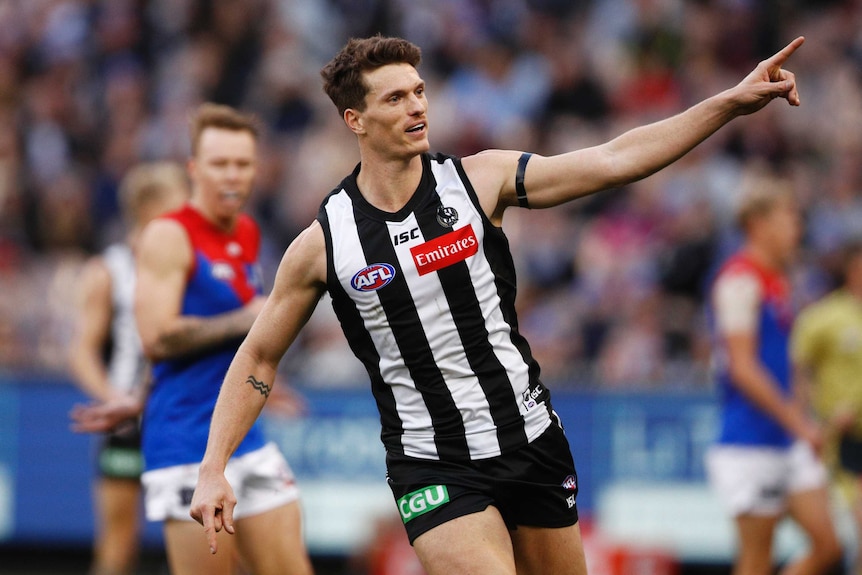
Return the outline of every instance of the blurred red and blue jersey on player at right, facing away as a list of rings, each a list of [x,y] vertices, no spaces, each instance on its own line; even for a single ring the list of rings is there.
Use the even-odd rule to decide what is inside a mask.
[[[715,283],[723,278],[739,276],[756,282],[758,288],[760,305],[755,324],[758,358],[778,382],[780,392],[789,397],[792,394],[789,346],[793,323],[789,282],[783,275],[759,266],[744,254],[737,254],[724,264]],[[720,334],[716,334],[715,339],[720,342]],[[721,344],[717,345],[716,352],[722,407],[718,442],[777,448],[790,446],[793,443],[790,434],[733,385],[726,351]]]

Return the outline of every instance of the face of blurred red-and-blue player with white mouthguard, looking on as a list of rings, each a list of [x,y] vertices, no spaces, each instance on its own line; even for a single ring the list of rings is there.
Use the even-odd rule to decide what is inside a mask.
[[[217,219],[232,218],[251,195],[257,170],[251,132],[206,128],[189,162],[194,199]]]

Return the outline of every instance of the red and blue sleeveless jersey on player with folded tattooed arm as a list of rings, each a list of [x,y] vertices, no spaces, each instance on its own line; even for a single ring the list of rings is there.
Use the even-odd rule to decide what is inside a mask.
[[[182,315],[214,316],[233,311],[261,293],[257,262],[260,232],[250,217],[241,215],[231,233],[218,229],[189,205],[165,217],[185,228],[194,253]],[[142,429],[147,470],[203,459],[219,388],[240,343],[242,338],[153,365]],[[262,429],[255,423],[235,455],[264,443]]]

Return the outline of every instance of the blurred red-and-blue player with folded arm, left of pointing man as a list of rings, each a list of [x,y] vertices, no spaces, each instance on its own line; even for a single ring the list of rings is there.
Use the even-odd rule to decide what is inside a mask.
[[[208,549],[189,511],[222,378],[265,296],[260,232],[243,213],[257,169],[258,122],[205,103],[190,121],[191,200],[154,220],[139,250],[135,315],[153,362],[143,406],[127,401],[78,412],[79,425],[104,425],[143,410],[147,519],[164,522],[173,575],[306,575],[299,491],[293,472],[257,424],[242,438],[227,476],[239,493],[236,537]],[[283,410],[296,404],[285,401]]]

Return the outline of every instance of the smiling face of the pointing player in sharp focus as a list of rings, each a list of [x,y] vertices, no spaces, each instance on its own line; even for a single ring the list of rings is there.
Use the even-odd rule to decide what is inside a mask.
[[[389,64],[364,74],[369,87],[358,122],[368,145],[383,155],[410,158],[427,152],[425,81],[410,64]]]

